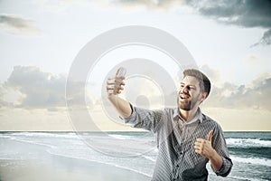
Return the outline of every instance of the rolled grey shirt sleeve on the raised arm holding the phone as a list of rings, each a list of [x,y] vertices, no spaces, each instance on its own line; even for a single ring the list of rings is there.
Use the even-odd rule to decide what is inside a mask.
[[[151,130],[154,133],[161,127],[163,110],[145,110],[130,104],[132,114],[128,118],[122,118],[126,124],[133,128]]]

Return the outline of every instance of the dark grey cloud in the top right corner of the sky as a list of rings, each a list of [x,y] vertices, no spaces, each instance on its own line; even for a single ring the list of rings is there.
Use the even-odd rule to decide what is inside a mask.
[[[253,45],[271,44],[271,1],[262,0],[186,0],[202,15],[216,19],[223,24],[236,24],[246,28],[265,28],[266,32],[258,43]]]

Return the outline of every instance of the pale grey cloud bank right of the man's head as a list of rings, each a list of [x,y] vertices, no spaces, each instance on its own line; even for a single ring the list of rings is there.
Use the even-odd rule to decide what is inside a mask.
[[[249,85],[235,85],[226,82],[222,87],[213,87],[207,107],[230,109],[262,109],[271,111],[269,95],[271,92],[271,75],[257,78]]]

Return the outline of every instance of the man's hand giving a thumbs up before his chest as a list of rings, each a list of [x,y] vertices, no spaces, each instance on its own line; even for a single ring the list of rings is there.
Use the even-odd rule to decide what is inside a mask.
[[[216,151],[214,148],[211,147],[211,136],[212,136],[213,130],[210,130],[208,134],[208,139],[203,138],[197,138],[195,142],[195,152],[200,154],[202,157],[207,157],[210,159],[210,157],[213,157]]]

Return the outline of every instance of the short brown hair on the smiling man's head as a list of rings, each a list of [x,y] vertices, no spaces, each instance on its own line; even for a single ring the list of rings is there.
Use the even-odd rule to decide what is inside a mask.
[[[197,78],[197,80],[200,81],[201,90],[203,92],[207,92],[207,97],[209,96],[210,80],[204,73],[196,69],[187,69],[187,70],[184,70],[182,73],[183,73],[183,78],[185,78],[186,76],[192,76],[192,77]]]

